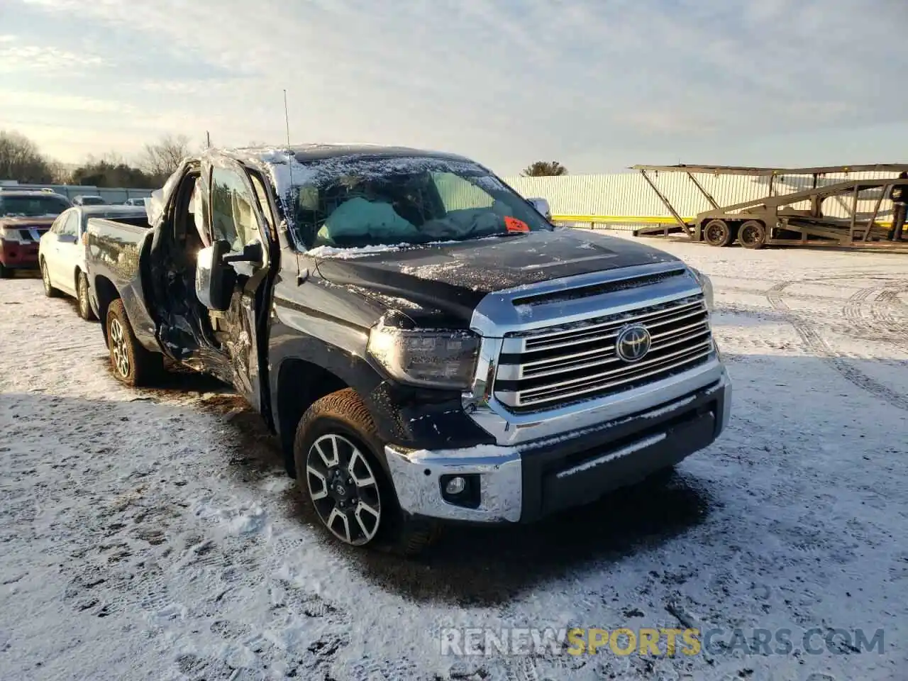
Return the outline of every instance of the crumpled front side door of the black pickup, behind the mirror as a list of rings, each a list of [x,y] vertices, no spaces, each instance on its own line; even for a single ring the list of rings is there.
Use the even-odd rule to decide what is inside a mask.
[[[235,272],[235,277],[225,279],[232,287],[229,305],[223,311],[210,312],[214,339],[229,364],[225,373],[230,374],[234,387],[253,408],[262,411],[259,343],[263,339],[257,320],[271,267],[267,222],[249,175],[239,163],[211,163],[202,168],[202,178],[209,185],[200,192],[208,199],[208,205],[202,206],[204,222],[212,243],[225,242],[222,262]]]

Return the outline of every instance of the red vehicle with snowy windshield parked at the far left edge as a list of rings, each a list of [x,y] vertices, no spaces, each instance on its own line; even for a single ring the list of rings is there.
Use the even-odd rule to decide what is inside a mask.
[[[37,269],[41,236],[70,206],[65,196],[54,192],[0,192],[0,279],[14,270]]]

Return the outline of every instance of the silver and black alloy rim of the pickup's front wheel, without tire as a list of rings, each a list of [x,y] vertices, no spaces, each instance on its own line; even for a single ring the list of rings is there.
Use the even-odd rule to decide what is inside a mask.
[[[312,443],[306,486],[321,522],[335,537],[353,546],[375,537],[381,522],[378,479],[350,439],[330,433]]]

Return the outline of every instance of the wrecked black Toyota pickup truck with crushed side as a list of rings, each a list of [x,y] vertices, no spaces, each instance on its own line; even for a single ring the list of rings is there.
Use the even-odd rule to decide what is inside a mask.
[[[469,159],[209,151],[149,222],[88,232],[114,373],[147,384],[166,357],[232,383],[349,544],[412,552],[439,521],[532,521],[671,469],[727,423],[706,276],[554,227]]]

